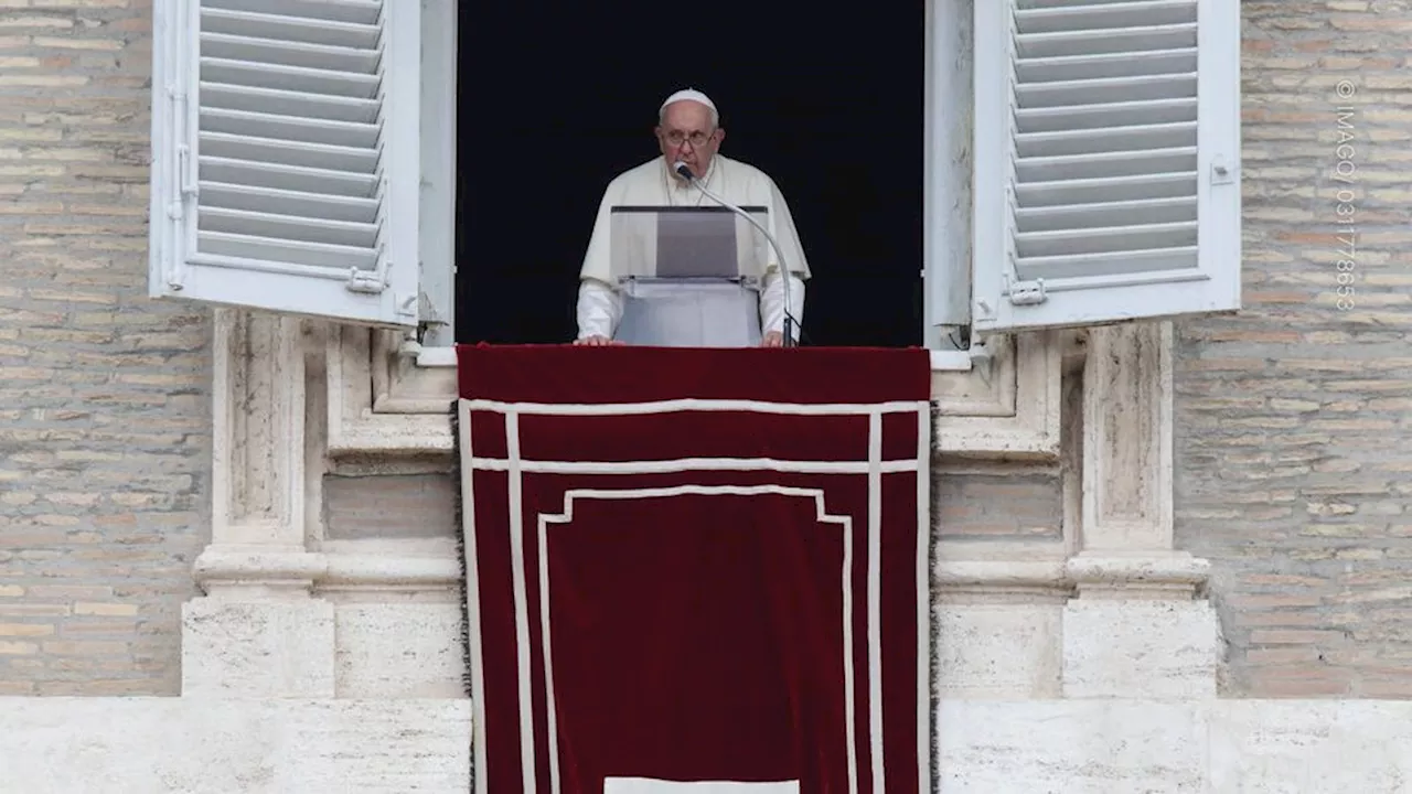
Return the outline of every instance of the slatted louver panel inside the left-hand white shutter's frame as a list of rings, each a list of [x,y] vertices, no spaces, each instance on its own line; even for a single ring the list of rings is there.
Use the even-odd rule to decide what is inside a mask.
[[[202,3],[196,251],[373,271],[380,3],[261,6]]]

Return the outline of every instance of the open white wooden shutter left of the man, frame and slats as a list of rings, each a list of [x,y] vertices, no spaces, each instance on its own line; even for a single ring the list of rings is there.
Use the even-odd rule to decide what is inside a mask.
[[[417,325],[419,11],[154,3],[151,295]]]

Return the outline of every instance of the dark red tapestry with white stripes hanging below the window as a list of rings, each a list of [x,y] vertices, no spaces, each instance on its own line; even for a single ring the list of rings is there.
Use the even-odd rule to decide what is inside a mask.
[[[925,350],[459,372],[477,793],[931,791]]]

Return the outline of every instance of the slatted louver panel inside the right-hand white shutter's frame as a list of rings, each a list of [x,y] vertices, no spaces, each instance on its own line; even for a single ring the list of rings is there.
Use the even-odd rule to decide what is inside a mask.
[[[1015,271],[1196,267],[1196,0],[1015,11]]]

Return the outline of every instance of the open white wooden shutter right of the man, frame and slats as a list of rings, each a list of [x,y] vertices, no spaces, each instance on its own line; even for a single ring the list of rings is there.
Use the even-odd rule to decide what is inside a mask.
[[[1240,3],[977,0],[973,325],[1240,308]]]

